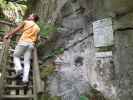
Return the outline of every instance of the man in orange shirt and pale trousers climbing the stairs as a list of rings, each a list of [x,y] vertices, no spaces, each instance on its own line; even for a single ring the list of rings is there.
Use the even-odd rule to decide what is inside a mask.
[[[4,36],[4,39],[8,39],[17,32],[22,33],[13,54],[13,61],[15,64],[16,75],[20,76],[20,74],[23,73],[22,82],[24,84],[28,83],[32,50],[40,31],[39,26],[36,24],[38,20],[39,17],[37,15],[31,14],[21,25]],[[24,56],[24,68],[22,68],[21,65],[21,56]]]

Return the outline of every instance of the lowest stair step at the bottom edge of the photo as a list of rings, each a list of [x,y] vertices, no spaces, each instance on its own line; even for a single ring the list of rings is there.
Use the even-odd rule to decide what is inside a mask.
[[[3,95],[2,100],[31,100],[33,95]]]

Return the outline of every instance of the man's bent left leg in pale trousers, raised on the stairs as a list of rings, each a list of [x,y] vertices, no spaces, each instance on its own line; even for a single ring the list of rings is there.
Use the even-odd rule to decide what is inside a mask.
[[[22,71],[20,57],[21,57],[21,55],[24,54],[25,49],[26,49],[26,46],[22,46],[22,45],[17,45],[15,48],[15,52],[13,54],[13,61],[15,64],[16,73]]]

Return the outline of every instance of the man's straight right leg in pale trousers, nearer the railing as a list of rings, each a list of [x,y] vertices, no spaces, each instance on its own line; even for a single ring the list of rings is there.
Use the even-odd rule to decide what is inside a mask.
[[[33,47],[28,47],[24,53],[24,72],[23,72],[23,79],[24,83],[29,81],[29,71],[30,71],[30,60],[32,54]]]

